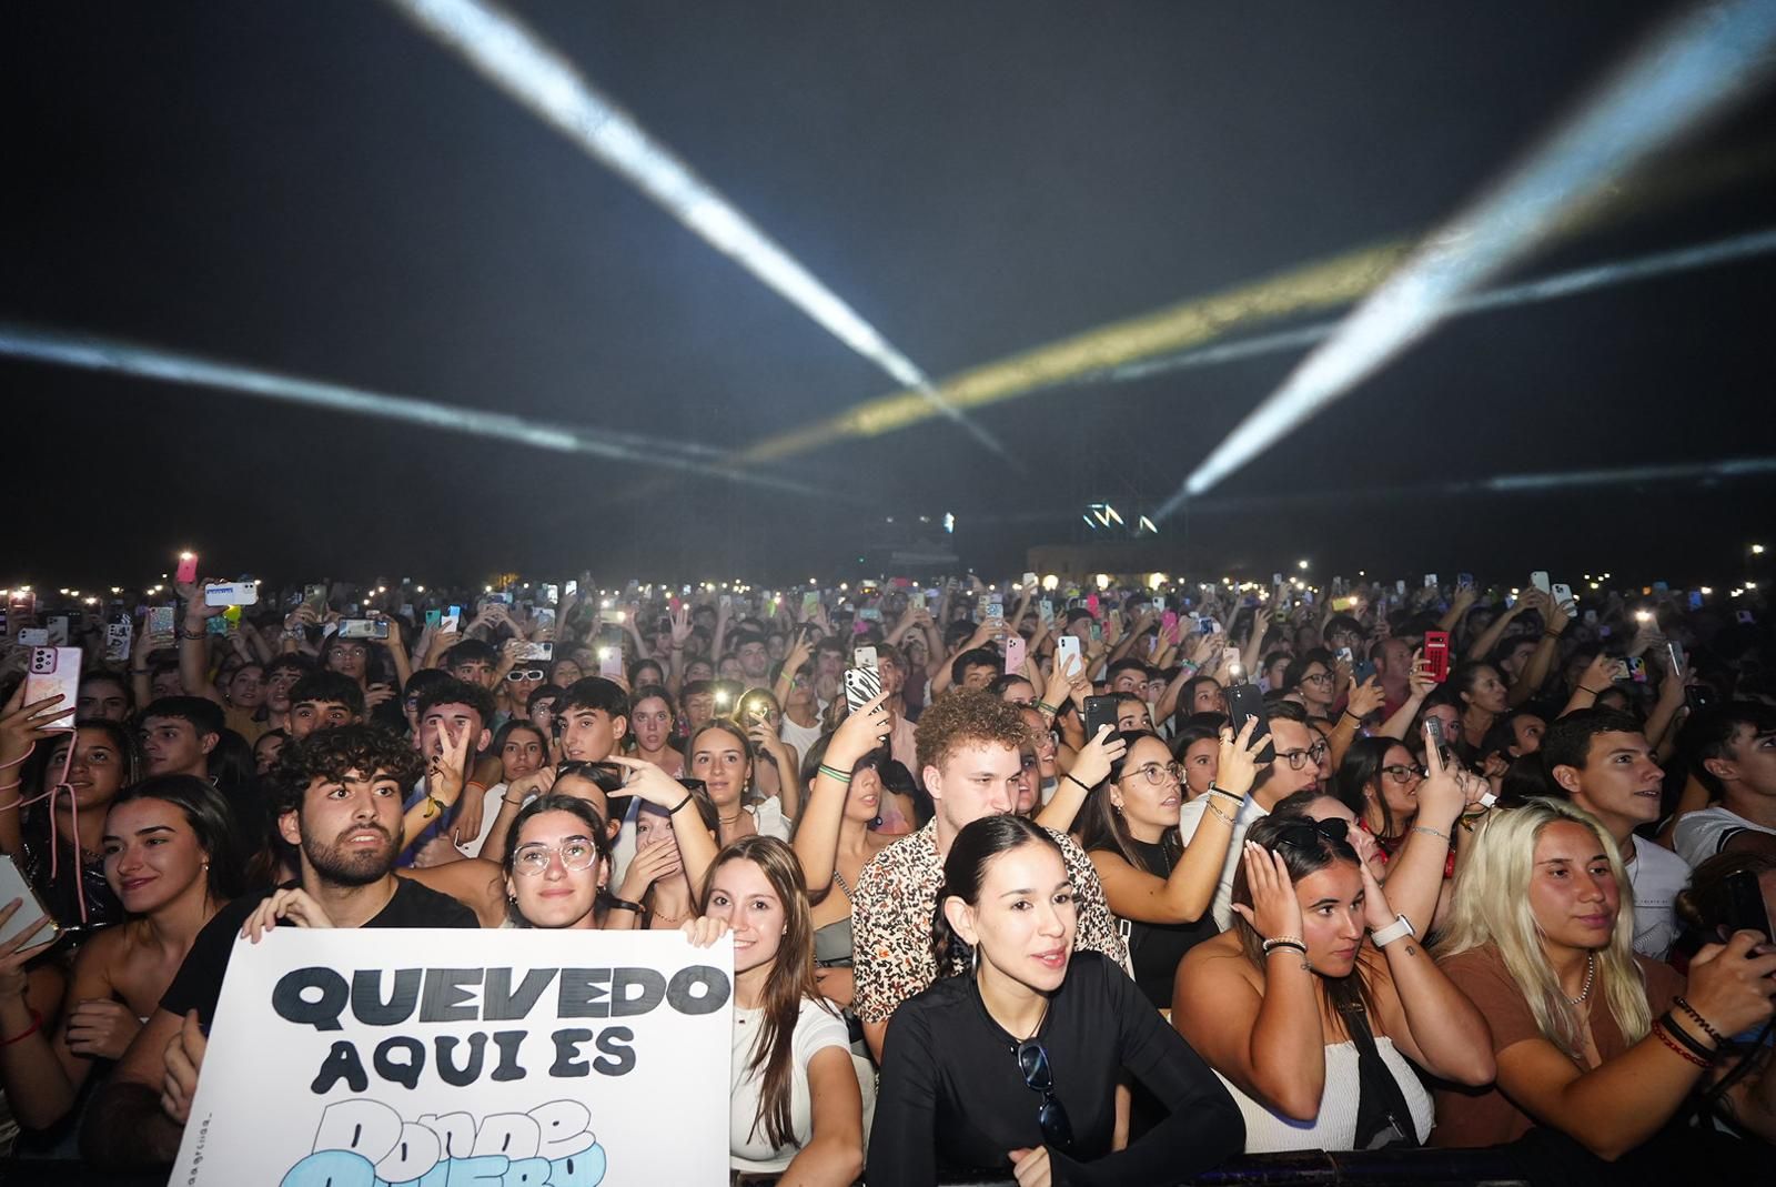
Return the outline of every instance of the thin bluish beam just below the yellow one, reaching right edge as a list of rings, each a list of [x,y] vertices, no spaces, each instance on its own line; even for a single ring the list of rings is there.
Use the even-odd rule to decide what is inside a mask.
[[[1588,268],[1574,268],[1572,272],[1559,272],[1556,275],[1526,281],[1522,284],[1506,284],[1504,288],[1494,288],[1455,302],[1449,306],[1447,316],[1467,316],[1471,313],[1488,313],[1492,309],[1511,309],[1515,306],[1529,306],[1543,300],[1559,300],[1561,297],[1579,297],[1581,293],[1611,288],[1614,284],[1650,281],[1673,272],[1710,268],[1753,256],[1765,256],[1772,251],[1776,251],[1776,227],[1753,231],[1749,235],[1737,235],[1712,243],[1698,243],[1694,247],[1678,247],[1675,251],[1637,256],[1634,259],[1618,259]],[[1217,362],[1238,362],[1241,359],[1256,359],[1266,354],[1282,354],[1288,350],[1305,350],[1307,347],[1330,338],[1337,327],[1339,322],[1336,320],[1316,322],[1312,325],[1279,331],[1275,334],[1259,334],[1256,338],[1241,338],[1240,341],[1185,350],[1183,354],[1174,354],[1167,359],[1124,362],[1115,370],[1099,371],[1098,375],[1085,377],[1080,382],[1101,380],[1124,384],[1137,378],[1165,375],[1167,371],[1213,366]]]

